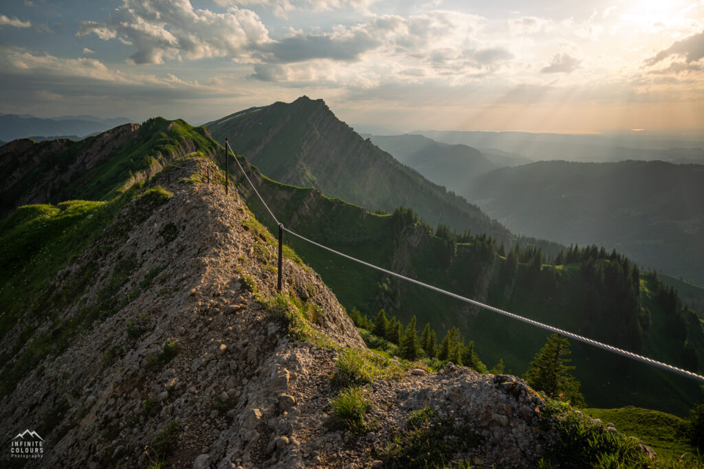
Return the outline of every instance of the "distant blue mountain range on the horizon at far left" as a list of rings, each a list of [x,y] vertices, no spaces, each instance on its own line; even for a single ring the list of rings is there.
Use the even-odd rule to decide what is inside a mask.
[[[46,140],[46,136],[82,138],[121,124],[134,122],[127,117],[103,119],[90,115],[62,116],[42,119],[32,115],[0,114],[0,140],[32,138]]]

